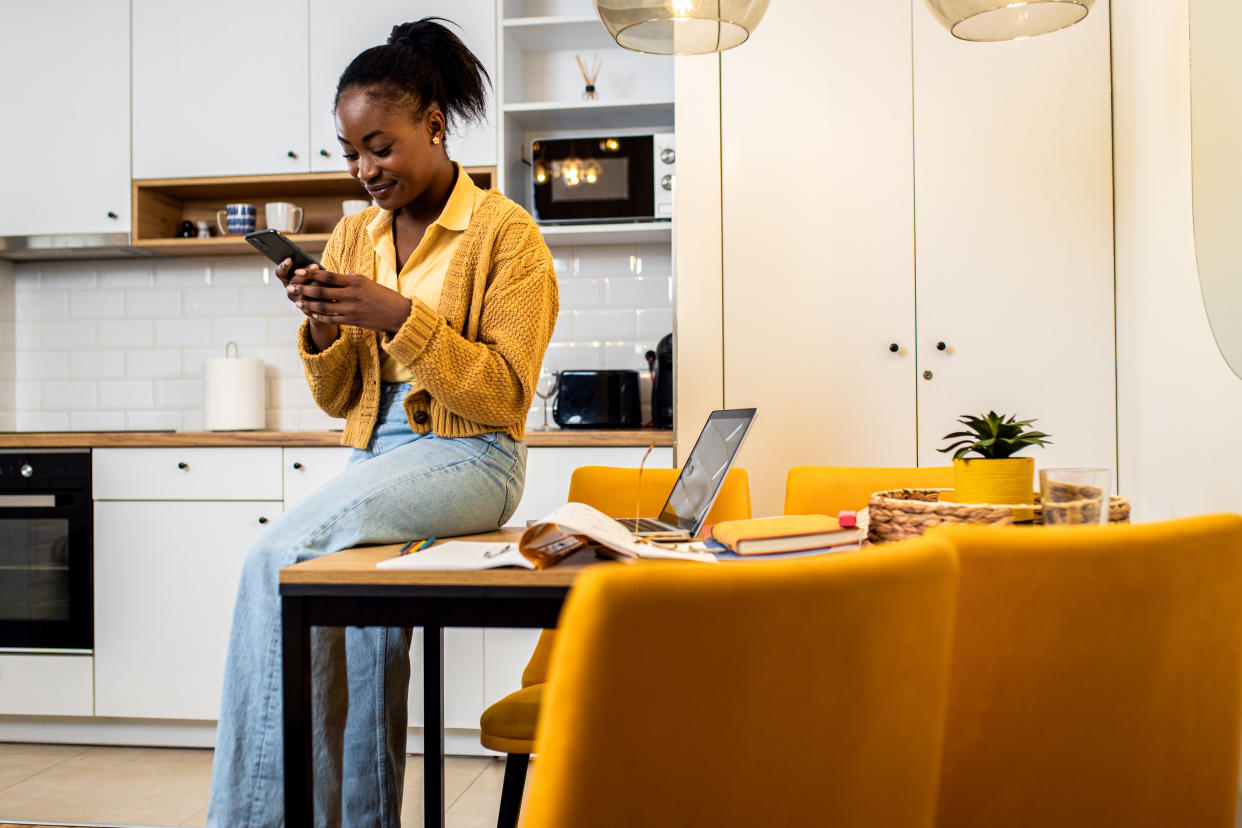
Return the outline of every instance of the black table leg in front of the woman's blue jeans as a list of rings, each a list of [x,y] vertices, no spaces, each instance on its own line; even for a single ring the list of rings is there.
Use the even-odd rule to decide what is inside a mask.
[[[309,826],[314,811],[310,762],[310,627],[304,598],[281,598],[284,683],[284,824]]]

